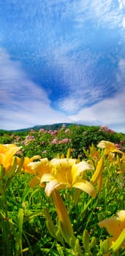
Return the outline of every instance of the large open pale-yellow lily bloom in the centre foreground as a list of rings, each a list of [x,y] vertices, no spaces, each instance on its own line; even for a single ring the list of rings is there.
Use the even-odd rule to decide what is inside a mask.
[[[50,196],[54,189],[64,189],[75,187],[87,192],[92,197],[96,196],[96,191],[91,183],[83,179],[81,175],[85,170],[93,167],[87,162],[77,163],[76,159],[52,159],[50,161],[51,172],[46,173],[41,178],[41,183],[47,181],[45,192]]]

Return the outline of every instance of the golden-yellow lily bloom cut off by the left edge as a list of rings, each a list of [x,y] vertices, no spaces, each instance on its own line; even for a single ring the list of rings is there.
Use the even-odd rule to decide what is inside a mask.
[[[3,165],[6,171],[10,169],[13,156],[20,148],[15,144],[0,144],[0,165]]]

